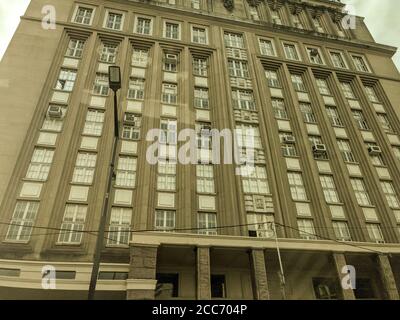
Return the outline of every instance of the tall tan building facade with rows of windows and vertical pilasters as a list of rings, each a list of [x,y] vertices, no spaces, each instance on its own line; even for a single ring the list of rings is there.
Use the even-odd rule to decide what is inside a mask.
[[[396,49],[343,7],[32,0],[0,64],[0,297],[87,297],[118,65],[97,298],[399,299]]]

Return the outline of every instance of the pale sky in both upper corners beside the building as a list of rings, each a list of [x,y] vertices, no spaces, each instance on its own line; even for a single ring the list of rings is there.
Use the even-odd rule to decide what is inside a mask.
[[[30,0],[0,0],[0,59],[11,40]],[[355,14],[366,18],[375,40],[379,43],[400,47],[399,0],[342,0],[352,4]],[[394,60],[400,69],[400,52]]]

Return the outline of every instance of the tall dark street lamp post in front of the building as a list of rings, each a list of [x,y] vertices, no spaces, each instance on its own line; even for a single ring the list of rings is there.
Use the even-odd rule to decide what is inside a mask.
[[[113,186],[113,181],[115,180],[116,177],[114,168],[115,168],[115,157],[117,154],[117,145],[119,139],[117,92],[119,89],[121,89],[121,69],[118,66],[110,66],[108,69],[108,75],[109,75],[109,87],[114,92],[114,139],[112,146],[111,162],[108,172],[107,192],[104,198],[103,210],[100,218],[99,230],[97,233],[96,249],[93,257],[93,269],[92,269],[92,276],[90,279],[89,294],[88,294],[89,300],[94,299],[94,295],[96,292],[96,284],[100,268],[101,250],[103,248],[104,232],[107,222],[107,213],[109,209],[108,207],[111,195],[111,188]]]

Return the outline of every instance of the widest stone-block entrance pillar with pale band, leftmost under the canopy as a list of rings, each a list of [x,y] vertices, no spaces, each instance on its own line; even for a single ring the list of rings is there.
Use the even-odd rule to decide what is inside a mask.
[[[157,247],[134,246],[130,250],[127,300],[154,300],[157,285]]]

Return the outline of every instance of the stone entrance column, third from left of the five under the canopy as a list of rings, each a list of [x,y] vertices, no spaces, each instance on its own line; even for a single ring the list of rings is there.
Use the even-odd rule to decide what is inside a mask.
[[[252,249],[250,252],[251,277],[255,300],[269,300],[267,270],[262,249]]]

